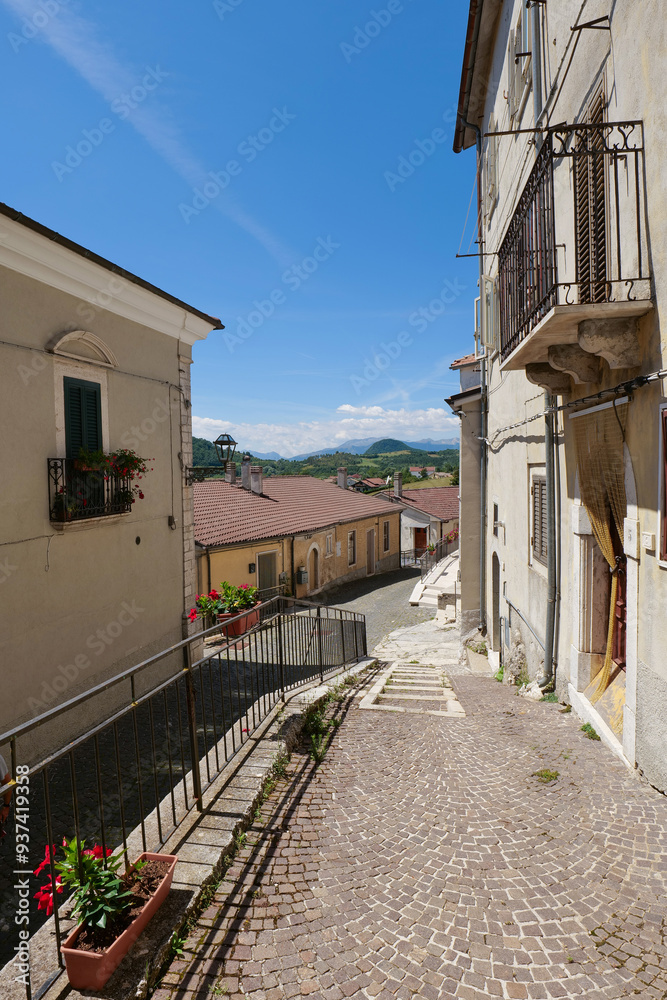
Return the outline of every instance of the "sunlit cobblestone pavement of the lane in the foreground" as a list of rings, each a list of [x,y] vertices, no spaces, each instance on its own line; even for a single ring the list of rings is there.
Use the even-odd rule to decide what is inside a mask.
[[[336,704],[155,1000],[667,998],[665,798],[557,704],[451,679],[465,718]]]

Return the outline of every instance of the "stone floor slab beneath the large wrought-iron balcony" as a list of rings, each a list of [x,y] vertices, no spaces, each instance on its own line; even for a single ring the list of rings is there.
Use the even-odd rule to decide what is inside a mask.
[[[500,367],[502,370],[518,371],[527,364],[548,361],[547,352],[552,345],[577,343],[579,324],[585,319],[628,319],[644,316],[652,308],[650,299],[554,306],[509,357],[500,363]]]

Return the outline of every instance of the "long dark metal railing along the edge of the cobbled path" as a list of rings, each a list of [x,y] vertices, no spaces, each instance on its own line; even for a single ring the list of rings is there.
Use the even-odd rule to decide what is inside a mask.
[[[235,620],[229,619],[0,735],[0,749],[10,747],[12,775],[18,767],[21,782],[29,782],[29,840],[21,855],[26,874],[44,860],[45,845],[60,844],[63,836],[114,851],[127,849],[129,840],[134,847],[140,841],[143,850],[159,849],[190,812],[201,812],[203,793],[287,692],[366,655],[363,615],[281,596],[263,608],[261,622],[244,635],[207,644]],[[140,693],[142,674],[174,654],[182,655],[182,669]],[[68,723],[75,728],[84,705],[102,693],[110,698],[112,691],[111,715],[74,739],[66,736],[64,746],[37,763],[23,765],[40,727],[59,720],[63,731]],[[18,802],[15,818],[18,834]],[[10,851],[12,839],[5,840]],[[4,867],[11,872],[16,865]],[[31,889],[31,934],[45,921],[32,894],[49,875],[54,885],[55,874],[51,861]],[[11,874],[3,881],[0,868],[3,916],[16,909],[14,881]],[[33,970],[35,981],[26,983],[28,1000],[63,969],[60,946],[70,929],[63,924],[64,899],[55,896],[50,964],[44,964],[43,943],[36,949],[39,968]],[[15,954],[13,919],[11,926],[14,932],[0,942],[0,968]]]

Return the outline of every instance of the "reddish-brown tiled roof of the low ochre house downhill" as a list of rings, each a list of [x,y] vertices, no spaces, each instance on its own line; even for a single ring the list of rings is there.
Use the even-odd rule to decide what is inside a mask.
[[[313,476],[271,476],[264,479],[263,489],[258,495],[221,479],[195,483],[196,541],[234,545],[393,513],[384,499],[341,490]]]

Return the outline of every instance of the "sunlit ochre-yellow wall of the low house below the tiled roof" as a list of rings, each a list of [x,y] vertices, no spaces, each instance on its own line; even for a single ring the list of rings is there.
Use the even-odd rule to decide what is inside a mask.
[[[251,542],[245,545],[230,545],[220,549],[210,549],[207,559],[206,552],[197,550],[197,588],[198,591],[208,591],[211,586],[218,587],[223,580],[239,586],[247,583],[258,586],[258,572],[249,572],[249,565],[255,563],[262,552],[276,553],[276,573],[287,574],[287,587],[295,597],[306,598],[319,594],[334,584],[344,583],[367,575],[366,567],[366,537],[370,530],[375,531],[375,572],[384,573],[397,569],[399,566],[399,524],[400,510],[393,511],[389,505],[386,515],[362,518],[345,524],[334,524],[321,531],[296,535],[287,538],[274,538]],[[384,551],[383,522],[389,522],[389,551]],[[347,539],[348,532],[357,532],[357,559],[354,565],[348,564]],[[332,536],[332,554],[327,555],[327,535]],[[294,546],[295,573],[300,567],[308,571],[308,583],[292,585],[292,545]],[[319,553],[319,582],[315,586],[312,580],[311,553],[316,549]],[[340,551],[339,551],[340,550]],[[211,573],[209,581],[208,560]]]

